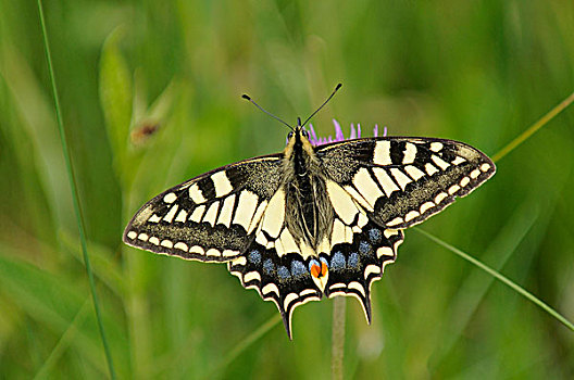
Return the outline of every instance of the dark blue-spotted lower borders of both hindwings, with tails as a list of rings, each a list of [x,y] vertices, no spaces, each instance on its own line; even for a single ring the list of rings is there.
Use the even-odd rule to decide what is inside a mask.
[[[341,223],[335,219],[334,223]],[[241,255],[227,264],[246,289],[255,289],[265,301],[277,306],[289,339],[292,312],[310,301],[320,301],[323,295],[350,295],[357,297],[365,317],[371,322],[371,284],[383,275],[385,266],[394,263],[397,248],[402,242],[400,230],[384,229],[367,221],[349,226],[351,242],[339,242],[329,252],[305,255],[299,246],[277,251],[255,240]],[[342,226],[342,224],[341,224]],[[337,228],[333,228],[332,240],[337,240]],[[280,239],[279,239],[280,240]],[[312,266],[326,265],[326,284],[322,289],[311,275]]]

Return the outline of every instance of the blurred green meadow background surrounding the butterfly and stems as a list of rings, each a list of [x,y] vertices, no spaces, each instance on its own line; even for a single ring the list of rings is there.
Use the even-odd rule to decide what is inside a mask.
[[[376,124],[495,154],[574,90],[574,2],[45,2],[55,78],[104,326],[120,378],[330,373],[333,301],[274,318],[223,265],[128,249],[151,197],[278,152],[294,123]],[[574,110],[421,228],[574,318]],[[155,130],[146,136],[145,130]],[[129,135],[130,131],[133,135]],[[132,136],[132,137],[129,137]],[[35,1],[0,0],[0,377],[108,376],[67,186]],[[574,333],[416,231],[373,286],[373,325],[347,303],[347,378],[569,379]]]

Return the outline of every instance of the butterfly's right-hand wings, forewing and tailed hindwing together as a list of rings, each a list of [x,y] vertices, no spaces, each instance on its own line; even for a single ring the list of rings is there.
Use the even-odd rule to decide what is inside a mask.
[[[495,173],[478,150],[442,139],[358,139],[322,145],[316,154],[336,183],[327,187],[336,216],[325,294],[357,297],[369,322],[371,284],[395,262],[402,229],[440,212]],[[350,215],[363,215],[366,224],[349,217],[342,205],[351,203]]]

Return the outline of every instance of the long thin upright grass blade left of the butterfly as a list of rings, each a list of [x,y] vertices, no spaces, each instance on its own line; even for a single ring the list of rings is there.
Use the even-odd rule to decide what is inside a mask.
[[[70,188],[72,190],[72,201],[74,203],[74,213],[76,214],[76,221],[78,225],[78,232],[79,232],[79,240],[82,242],[82,252],[84,255],[84,264],[86,266],[86,271],[88,274],[88,281],[89,287],[91,291],[91,299],[93,301],[93,309],[96,311],[96,318],[98,320],[98,327],[100,330],[101,340],[103,343],[103,351],[105,352],[105,358],[108,360],[108,368],[110,370],[110,377],[112,379],[115,379],[115,370],[112,362],[112,354],[108,344],[108,340],[105,339],[105,330],[103,328],[99,302],[98,302],[98,295],[96,293],[96,284],[93,281],[93,275],[91,273],[91,266],[88,255],[88,249],[86,244],[86,229],[84,226],[84,218],[82,215],[82,207],[79,205],[79,194],[76,186],[76,178],[74,176],[74,170],[72,167],[72,159],[70,156],[70,150],[67,147],[67,140],[64,131],[64,125],[62,121],[62,111],[60,109],[60,100],[58,98],[58,88],[55,86],[55,78],[54,78],[54,72],[52,66],[52,56],[50,52],[50,43],[48,41],[48,31],[46,29],[46,21],[43,17],[43,9],[42,9],[42,2],[41,0],[38,0],[38,13],[40,17],[40,26],[42,30],[42,37],[43,37],[43,48],[46,52],[46,60],[48,63],[48,73],[50,75],[50,84],[52,87],[52,96],[54,101],[54,107],[55,107],[55,116],[58,119],[58,130],[60,132],[60,141],[62,143],[62,152],[64,155],[64,161],[66,164],[66,172],[67,172],[67,179],[70,181]]]

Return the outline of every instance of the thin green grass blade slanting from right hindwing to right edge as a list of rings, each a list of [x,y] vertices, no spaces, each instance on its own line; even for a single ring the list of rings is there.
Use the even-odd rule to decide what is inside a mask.
[[[453,245],[450,245],[449,243],[442,241],[441,239],[435,237],[434,235],[428,233],[428,232],[422,230],[419,227],[414,227],[413,229],[415,231],[424,235],[428,239],[433,240],[435,243],[446,248],[450,252],[452,252],[452,253],[457,254],[458,256],[462,257],[463,259],[467,261],[472,265],[483,269],[484,271],[486,271],[490,276],[495,277],[497,280],[501,281],[502,283],[504,283],[508,287],[510,287],[511,289],[513,289],[515,292],[517,292],[519,294],[521,294],[522,296],[524,296],[528,301],[533,302],[538,307],[542,308],[545,312],[547,312],[552,317],[558,319],[560,322],[562,322],[562,325],[564,325],[565,327],[567,327],[569,329],[574,331],[574,324],[572,324],[570,320],[567,320],[565,317],[563,317],[560,313],[558,313],[552,307],[550,307],[548,304],[546,304],[541,300],[537,299],[534,294],[532,294],[531,292],[528,292],[527,290],[525,290],[524,288],[522,288],[517,283],[513,282],[511,279],[502,276],[501,274],[499,274],[495,269],[490,268],[489,266],[487,266],[483,262],[474,258],[473,256],[469,255],[467,253],[464,253],[463,251],[459,250],[458,248],[456,248]]]

